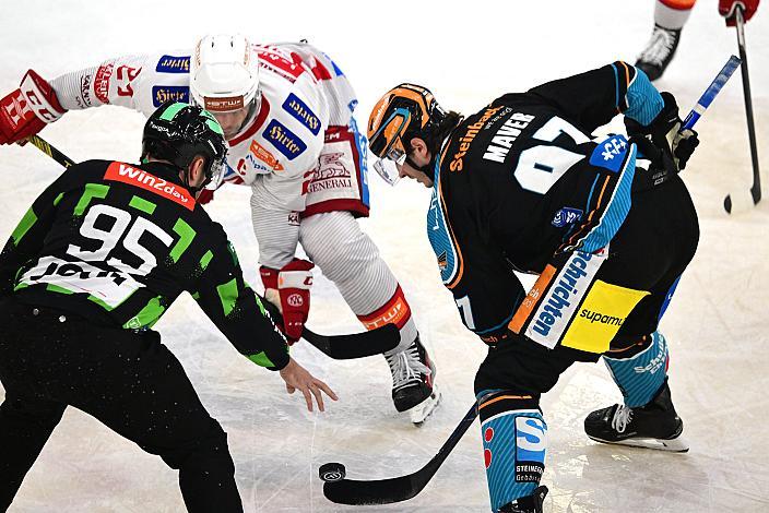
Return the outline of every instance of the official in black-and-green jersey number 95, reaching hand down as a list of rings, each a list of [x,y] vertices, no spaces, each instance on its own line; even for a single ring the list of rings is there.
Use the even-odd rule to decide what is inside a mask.
[[[310,410],[312,396],[321,410],[323,393],[336,399],[288,356],[224,230],[196,203],[225,155],[208,111],[164,104],[144,127],[141,164],[72,166],[11,235],[0,255],[0,511],[67,406],[178,469],[189,511],[242,511],[226,433],[152,330],[182,291]]]

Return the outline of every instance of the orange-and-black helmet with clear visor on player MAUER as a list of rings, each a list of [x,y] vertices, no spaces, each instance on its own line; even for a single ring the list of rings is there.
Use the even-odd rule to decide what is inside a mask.
[[[388,91],[368,118],[368,146],[380,158],[374,168],[387,182],[394,183],[398,171],[391,163],[406,162],[410,141],[415,136],[423,139],[435,155],[448,117],[426,87],[404,83]]]

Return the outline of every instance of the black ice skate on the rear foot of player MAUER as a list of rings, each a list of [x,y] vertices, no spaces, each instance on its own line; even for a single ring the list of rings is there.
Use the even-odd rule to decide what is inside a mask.
[[[651,403],[637,408],[615,404],[591,413],[584,419],[584,432],[596,442],[634,448],[686,452],[684,422],[675,413],[667,381]]]

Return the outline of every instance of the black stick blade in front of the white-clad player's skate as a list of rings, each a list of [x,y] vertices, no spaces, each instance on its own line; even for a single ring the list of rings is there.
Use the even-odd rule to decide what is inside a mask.
[[[401,343],[401,333],[394,324],[346,335],[319,335],[305,326],[301,337],[335,360],[381,355]]]

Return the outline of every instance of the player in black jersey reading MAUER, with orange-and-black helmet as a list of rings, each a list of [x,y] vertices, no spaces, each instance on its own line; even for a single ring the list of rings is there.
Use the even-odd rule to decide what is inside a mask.
[[[630,139],[594,141],[619,112]],[[603,355],[625,398],[587,417],[590,438],[687,450],[658,331],[699,238],[677,176],[698,140],[679,127],[673,96],[625,62],[504,95],[466,119],[413,84],[371,112],[375,168],[433,188],[441,278],[489,346],[475,393],[495,512],[542,511],[540,397],[575,361]],[[529,294],[513,271],[539,274]]]

